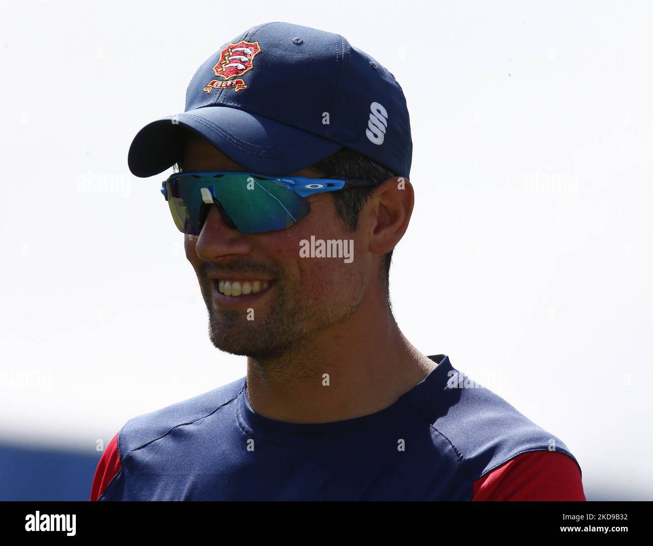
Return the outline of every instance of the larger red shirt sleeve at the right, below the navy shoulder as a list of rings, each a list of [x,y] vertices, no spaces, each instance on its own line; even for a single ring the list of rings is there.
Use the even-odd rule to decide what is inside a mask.
[[[529,451],[473,483],[471,500],[586,500],[581,469],[559,451]]]

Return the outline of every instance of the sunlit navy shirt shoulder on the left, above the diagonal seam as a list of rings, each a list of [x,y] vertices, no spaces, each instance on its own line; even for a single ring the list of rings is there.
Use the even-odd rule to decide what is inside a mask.
[[[193,398],[129,419],[118,432],[118,454],[147,445],[182,424],[190,424],[214,413],[234,400],[245,384],[245,377],[203,392]]]

